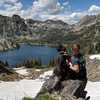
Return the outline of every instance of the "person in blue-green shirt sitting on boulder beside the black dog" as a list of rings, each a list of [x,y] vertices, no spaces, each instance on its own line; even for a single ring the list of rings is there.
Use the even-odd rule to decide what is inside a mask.
[[[79,44],[73,44],[69,68],[73,71],[72,79],[87,80],[86,61],[84,56],[80,53]]]

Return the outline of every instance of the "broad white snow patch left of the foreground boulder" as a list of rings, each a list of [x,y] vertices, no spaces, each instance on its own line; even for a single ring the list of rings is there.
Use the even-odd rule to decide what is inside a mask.
[[[15,82],[1,81],[0,100],[22,100],[23,97],[35,98],[45,80],[48,79],[50,75],[52,75],[52,72],[53,71],[47,71],[35,80],[24,79]]]

